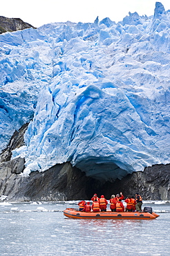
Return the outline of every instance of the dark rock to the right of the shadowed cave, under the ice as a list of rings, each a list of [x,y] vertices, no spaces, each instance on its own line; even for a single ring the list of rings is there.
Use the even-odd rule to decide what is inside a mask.
[[[111,186],[108,185],[108,191]],[[146,167],[144,172],[133,172],[121,181],[116,180],[113,194],[120,190],[125,196],[138,192],[144,200],[170,200],[170,164]]]

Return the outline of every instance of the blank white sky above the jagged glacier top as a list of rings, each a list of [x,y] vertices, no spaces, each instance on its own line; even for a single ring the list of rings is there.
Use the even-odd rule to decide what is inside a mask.
[[[93,22],[109,17],[122,21],[129,12],[151,16],[155,0],[3,0],[0,16],[20,18],[32,26],[39,27],[51,22]],[[170,9],[170,0],[160,1],[165,10]]]

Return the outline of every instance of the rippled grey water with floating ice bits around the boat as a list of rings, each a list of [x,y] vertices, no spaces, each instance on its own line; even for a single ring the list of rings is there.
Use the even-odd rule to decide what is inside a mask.
[[[69,219],[77,202],[0,203],[0,255],[170,255],[170,202],[157,219]]]

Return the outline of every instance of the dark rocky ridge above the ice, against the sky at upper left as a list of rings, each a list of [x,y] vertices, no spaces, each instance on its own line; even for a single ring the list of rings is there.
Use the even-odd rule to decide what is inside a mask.
[[[34,28],[30,24],[22,21],[19,18],[6,18],[0,16],[0,34],[5,33],[7,31],[17,31],[23,30],[26,28]]]

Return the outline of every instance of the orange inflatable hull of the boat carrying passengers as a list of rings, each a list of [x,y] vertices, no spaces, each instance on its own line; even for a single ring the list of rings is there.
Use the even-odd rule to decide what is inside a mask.
[[[64,215],[73,219],[155,219],[160,216],[155,212],[80,212],[73,208],[66,208]]]

